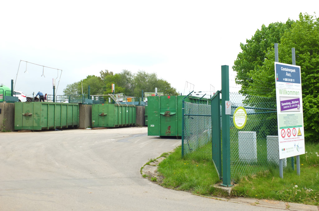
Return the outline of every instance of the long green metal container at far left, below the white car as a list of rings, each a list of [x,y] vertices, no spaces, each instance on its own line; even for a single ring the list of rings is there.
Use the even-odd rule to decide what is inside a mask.
[[[15,130],[41,130],[78,126],[79,105],[76,103],[14,103]]]

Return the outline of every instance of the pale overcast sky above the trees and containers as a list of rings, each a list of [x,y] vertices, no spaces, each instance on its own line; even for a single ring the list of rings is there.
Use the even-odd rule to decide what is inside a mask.
[[[155,72],[185,94],[193,89],[185,89],[187,81],[209,95],[211,85],[221,89],[221,65],[231,70],[240,43],[262,24],[318,11],[319,1],[308,0],[2,1],[0,84],[10,87],[17,77],[15,90],[29,97],[52,94],[62,69],[62,95],[67,84],[100,70],[127,69]]]

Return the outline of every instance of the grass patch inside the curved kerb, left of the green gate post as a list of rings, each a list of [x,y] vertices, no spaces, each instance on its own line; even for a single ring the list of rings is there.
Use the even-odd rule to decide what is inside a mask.
[[[201,155],[201,159],[191,155],[181,158],[181,153],[182,148],[177,147],[159,164],[158,172],[164,177],[162,186],[194,194],[227,196],[213,187],[220,180],[209,155]]]

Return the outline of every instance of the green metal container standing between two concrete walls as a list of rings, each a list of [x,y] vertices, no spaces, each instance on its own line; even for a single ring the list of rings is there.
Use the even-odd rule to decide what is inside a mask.
[[[92,127],[120,127],[135,124],[136,107],[134,105],[92,105]]]

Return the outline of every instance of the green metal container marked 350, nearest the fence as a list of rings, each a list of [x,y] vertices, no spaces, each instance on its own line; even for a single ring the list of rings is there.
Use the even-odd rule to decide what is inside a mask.
[[[182,136],[182,99],[185,96],[147,97],[147,135]],[[185,102],[207,103],[207,99],[189,97]],[[146,112],[145,112],[146,113]]]

